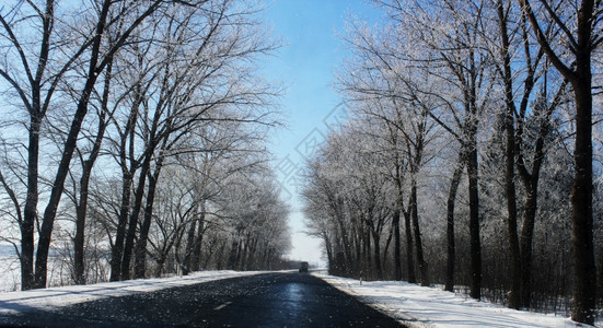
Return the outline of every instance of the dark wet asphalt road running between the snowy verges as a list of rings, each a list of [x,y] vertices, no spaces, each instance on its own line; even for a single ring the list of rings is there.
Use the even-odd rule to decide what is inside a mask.
[[[33,327],[402,327],[305,273],[268,273],[0,316]]]

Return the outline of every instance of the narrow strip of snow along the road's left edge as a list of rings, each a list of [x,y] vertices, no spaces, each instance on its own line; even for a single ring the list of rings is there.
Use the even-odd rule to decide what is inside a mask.
[[[71,285],[45,290],[0,293],[0,315],[36,309],[51,309],[104,297],[124,296],[137,292],[153,292],[167,288],[185,286],[200,282],[254,276],[265,272],[267,271],[200,271],[185,277],[103,282],[89,285]]]

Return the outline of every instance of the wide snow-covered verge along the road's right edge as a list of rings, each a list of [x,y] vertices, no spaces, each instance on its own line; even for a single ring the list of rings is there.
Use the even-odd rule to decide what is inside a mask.
[[[410,327],[584,327],[569,318],[514,311],[403,281],[360,284],[355,279],[313,274]]]

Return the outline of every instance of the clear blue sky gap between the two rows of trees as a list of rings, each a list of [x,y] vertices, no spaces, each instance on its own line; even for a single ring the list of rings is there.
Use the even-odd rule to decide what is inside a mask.
[[[272,0],[266,22],[285,46],[265,65],[267,78],[287,86],[281,98],[288,129],[274,138],[275,167],[282,197],[291,204],[292,259],[323,262],[318,239],[305,236],[303,213],[297,195],[304,156],[311,155],[329,124],[345,118],[345,108],[333,87],[334,72],[347,56],[340,36],[350,15],[375,22],[381,16],[364,0]]]

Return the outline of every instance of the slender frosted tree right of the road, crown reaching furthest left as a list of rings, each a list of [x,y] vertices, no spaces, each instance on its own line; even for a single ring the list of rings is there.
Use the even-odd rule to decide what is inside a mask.
[[[407,242],[414,241],[414,247],[407,247],[407,250],[415,249],[421,284],[429,285],[418,220],[417,188],[420,168],[430,160],[428,147],[433,139],[434,122],[429,119],[428,113],[434,110],[437,99],[429,94],[418,93],[419,89],[414,85],[414,81],[422,79],[430,84],[432,79],[425,75],[413,77],[417,71],[413,72],[407,62],[396,56],[405,50],[393,49],[399,45],[397,40],[370,35],[363,26],[353,25],[352,33],[350,43],[358,59],[346,68],[339,84],[349,103],[357,104],[361,116],[385,125],[391,151],[394,153],[393,171],[398,180],[396,185],[399,187],[399,196],[404,194],[399,166],[401,156],[404,157],[407,165],[405,171],[410,181],[409,201],[405,206],[403,197],[398,197],[398,207],[404,214],[405,225],[411,225],[414,231],[413,237],[409,235],[410,231],[407,231]]]

